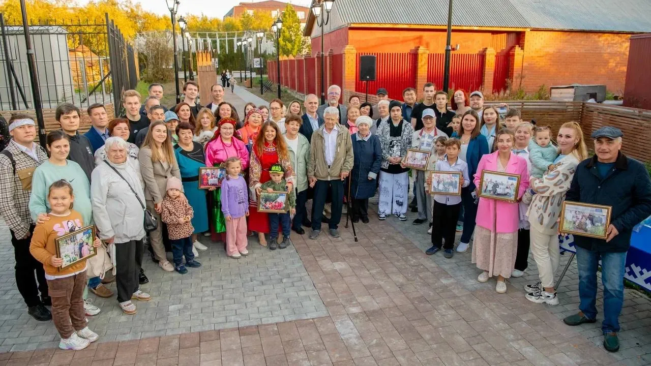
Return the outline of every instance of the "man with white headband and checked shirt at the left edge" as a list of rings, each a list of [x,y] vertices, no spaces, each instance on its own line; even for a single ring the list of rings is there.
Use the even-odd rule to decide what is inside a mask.
[[[48,160],[48,154],[34,143],[36,126],[28,115],[12,115],[9,134],[12,139],[0,152],[0,214],[11,231],[16,257],[16,286],[27,303],[27,313],[36,320],[46,321],[52,315],[44,305],[50,306],[51,299],[43,264],[29,253],[35,226],[29,214],[29,196],[34,170]]]

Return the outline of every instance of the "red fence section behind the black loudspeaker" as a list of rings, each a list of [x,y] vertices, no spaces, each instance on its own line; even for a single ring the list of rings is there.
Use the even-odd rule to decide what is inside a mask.
[[[357,53],[355,91],[366,92],[366,81],[359,81],[359,56],[375,55],[376,80],[368,81],[368,92],[385,88],[389,98],[400,98],[407,87],[415,87],[418,57],[416,53]]]

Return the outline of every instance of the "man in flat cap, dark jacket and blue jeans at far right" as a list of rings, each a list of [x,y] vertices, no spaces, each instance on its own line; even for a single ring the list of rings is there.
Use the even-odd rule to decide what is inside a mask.
[[[624,302],[624,264],[633,227],[651,215],[651,179],[644,165],[628,158],[622,132],[602,127],[592,133],[595,156],[579,163],[566,201],[611,206],[605,240],[574,236],[579,268],[579,313],[564,318],[577,326],[596,322],[597,268],[601,260],[603,283],[603,346],[619,349],[618,317]]]

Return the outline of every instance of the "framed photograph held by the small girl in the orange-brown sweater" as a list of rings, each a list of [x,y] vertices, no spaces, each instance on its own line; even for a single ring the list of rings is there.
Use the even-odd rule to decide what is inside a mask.
[[[72,223],[72,221],[70,221],[70,223]],[[75,224],[72,223],[73,229],[74,225]],[[68,228],[70,229],[70,225],[68,225]],[[57,257],[63,259],[63,263],[61,264],[61,267],[59,267],[59,270],[65,270],[79,262],[79,260],[89,259],[96,255],[97,251],[95,247],[92,246],[94,240],[94,225],[82,227],[74,232],[70,232],[70,234],[56,238],[54,244],[57,250]]]

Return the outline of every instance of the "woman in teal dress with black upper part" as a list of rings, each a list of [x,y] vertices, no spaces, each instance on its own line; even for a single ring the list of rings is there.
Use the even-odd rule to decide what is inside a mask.
[[[197,234],[208,231],[208,207],[206,206],[206,190],[199,189],[199,168],[206,166],[206,155],[200,143],[192,141],[194,128],[187,122],[176,126],[178,143],[174,145],[174,155],[178,162],[178,169],[181,171],[183,190],[187,202],[194,210],[192,226],[195,231],[192,234],[193,246],[199,250],[206,250],[197,240]]]

